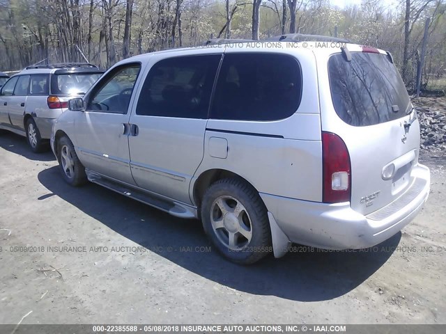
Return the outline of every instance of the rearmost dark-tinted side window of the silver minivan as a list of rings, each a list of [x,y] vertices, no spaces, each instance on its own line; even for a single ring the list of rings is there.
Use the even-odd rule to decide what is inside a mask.
[[[210,118],[281,120],[298,109],[302,72],[284,54],[225,54]]]

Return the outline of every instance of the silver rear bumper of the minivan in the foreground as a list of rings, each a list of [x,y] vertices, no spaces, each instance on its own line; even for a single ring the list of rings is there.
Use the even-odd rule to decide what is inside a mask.
[[[261,193],[268,211],[289,241],[325,249],[359,249],[380,244],[415,218],[430,191],[429,168],[417,165],[412,185],[397,200],[364,216],[349,202],[325,204]]]

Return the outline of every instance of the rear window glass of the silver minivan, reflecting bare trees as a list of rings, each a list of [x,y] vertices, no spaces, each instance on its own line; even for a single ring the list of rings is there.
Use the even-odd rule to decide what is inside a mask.
[[[334,54],[328,74],[334,110],[349,125],[376,125],[406,115],[410,99],[386,55],[352,52],[351,61],[346,61]]]

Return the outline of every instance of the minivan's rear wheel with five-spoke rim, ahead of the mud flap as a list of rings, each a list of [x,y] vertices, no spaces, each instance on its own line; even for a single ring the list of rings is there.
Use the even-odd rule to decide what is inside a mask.
[[[252,264],[272,251],[268,211],[244,180],[213,183],[203,196],[201,220],[210,241],[232,262]]]

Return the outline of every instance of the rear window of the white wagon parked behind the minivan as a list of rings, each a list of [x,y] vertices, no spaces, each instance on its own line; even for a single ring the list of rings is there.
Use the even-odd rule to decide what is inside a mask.
[[[51,82],[51,93],[52,95],[85,94],[101,75],[101,73],[55,74]]]

